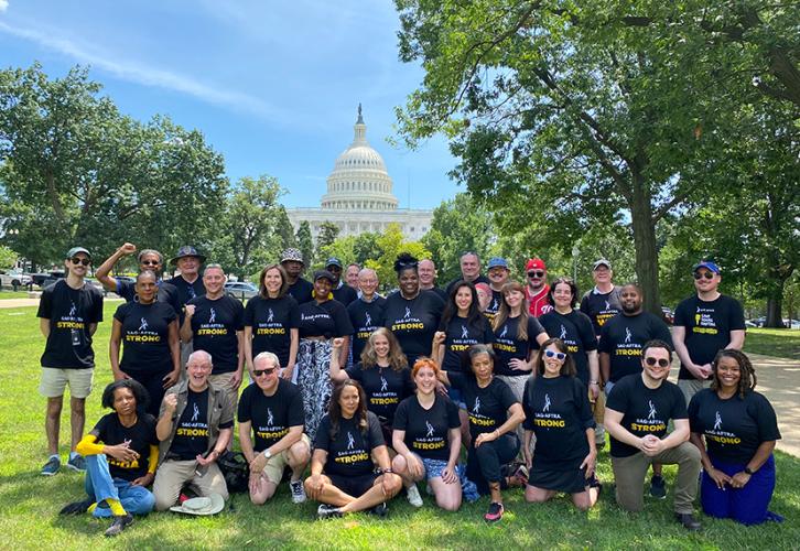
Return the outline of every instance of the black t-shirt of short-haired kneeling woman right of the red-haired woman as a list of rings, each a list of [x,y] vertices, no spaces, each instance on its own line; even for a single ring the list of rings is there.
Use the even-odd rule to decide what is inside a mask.
[[[482,432],[494,432],[508,420],[508,408],[517,402],[511,389],[498,378],[480,388],[472,375],[448,372],[453,388],[464,395],[473,441]]]

